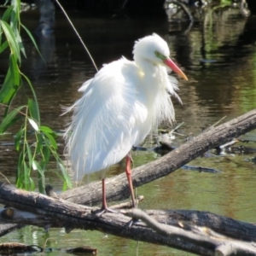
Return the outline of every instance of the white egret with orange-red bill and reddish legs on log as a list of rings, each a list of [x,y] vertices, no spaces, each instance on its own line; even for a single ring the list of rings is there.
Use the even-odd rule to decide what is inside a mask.
[[[177,96],[177,84],[168,76],[166,67],[188,79],[169,58],[166,41],[155,33],[139,39],[133,54],[134,61],[123,57],[104,65],[82,85],[79,91],[83,96],[67,108],[67,112],[74,112],[65,137],[76,180],[84,174],[107,170],[126,156],[125,172],[136,207],[130,150],[162,121],[174,120],[170,94]],[[108,209],[105,176],[102,209]]]

